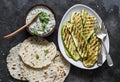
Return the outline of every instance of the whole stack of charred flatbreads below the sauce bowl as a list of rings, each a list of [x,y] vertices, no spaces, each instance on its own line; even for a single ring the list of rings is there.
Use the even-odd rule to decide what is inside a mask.
[[[7,67],[13,78],[29,82],[64,82],[70,71],[55,44],[40,37],[29,37],[13,47]]]

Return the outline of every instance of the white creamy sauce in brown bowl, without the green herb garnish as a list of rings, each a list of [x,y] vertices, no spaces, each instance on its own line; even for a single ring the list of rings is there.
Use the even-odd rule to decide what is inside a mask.
[[[49,18],[49,22],[46,25],[44,31],[42,30],[42,22],[39,20],[39,17],[36,19],[35,22],[33,22],[30,26],[29,26],[29,31],[31,31],[32,33],[34,33],[34,30],[37,30],[39,35],[45,35],[48,32],[50,32],[53,27],[55,26],[55,18],[53,13],[51,12],[51,10],[49,10],[47,7],[44,6],[36,6],[34,8],[32,8],[32,10],[29,11],[27,17],[26,17],[26,23],[28,23],[31,18],[37,14],[38,12],[45,12],[47,13],[47,16]],[[39,29],[39,30],[38,30]]]

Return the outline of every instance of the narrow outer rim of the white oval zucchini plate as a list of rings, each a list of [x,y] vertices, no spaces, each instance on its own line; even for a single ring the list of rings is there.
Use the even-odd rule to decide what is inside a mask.
[[[79,7],[84,7],[84,8],[87,8],[87,9],[89,9],[90,11],[92,11],[92,13],[94,13],[95,15],[96,15],[96,17],[100,20],[99,21],[99,24],[101,24],[102,23],[102,19],[101,19],[101,17],[92,9],[92,8],[90,8],[90,7],[88,7],[87,5],[83,5],[83,4],[75,4],[75,5],[73,5],[72,7],[70,7],[66,12],[65,12],[65,14],[63,15],[63,17],[62,17],[62,19],[61,19],[61,22],[60,22],[60,24],[59,24],[59,28],[58,28],[58,46],[59,46],[59,49],[60,49],[60,51],[61,51],[61,53],[62,53],[62,55],[63,55],[63,57],[68,61],[68,62],[70,62],[72,65],[74,65],[74,66],[76,66],[76,67],[78,67],[78,68],[81,68],[81,69],[87,69],[87,70],[91,70],[91,69],[96,69],[96,68],[98,68],[99,66],[96,66],[96,67],[90,67],[90,68],[87,68],[87,67],[80,67],[80,66],[78,66],[78,65],[75,65],[74,64],[74,62],[71,62],[69,59],[72,59],[72,58],[69,58],[68,56],[67,56],[67,58],[66,58],[66,53],[65,53],[65,55],[64,55],[64,53],[63,53],[63,51],[62,51],[62,49],[61,49],[61,44],[60,44],[60,38],[61,38],[61,28],[62,28],[62,25],[63,25],[63,20],[65,20],[65,17],[66,17],[66,15],[67,14],[69,14],[69,12],[74,8],[74,7],[76,7],[76,6],[79,6]],[[108,35],[108,32],[107,32],[107,41],[108,41],[108,43],[106,44],[107,45],[107,52],[109,52],[109,35]],[[61,43],[62,43],[62,45],[63,45],[63,41],[61,41]],[[106,46],[105,45],[105,46]],[[65,49],[65,47],[64,47],[64,45],[63,45],[63,48]],[[65,52],[65,50],[64,50],[64,52]],[[105,58],[105,60],[106,60],[106,58]],[[103,60],[103,63],[105,62],[105,60]],[[72,59],[72,61],[75,61],[75,60],[73,60]],[[81,61],[80,61],[81,62]]]

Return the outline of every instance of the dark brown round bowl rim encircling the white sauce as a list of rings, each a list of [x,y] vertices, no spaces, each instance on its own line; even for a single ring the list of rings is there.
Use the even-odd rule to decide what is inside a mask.
[[[54,12],[54,10],[53,10],[50,6],[45,5],[45,4],[34,4],[34,5],[30,6],[30,8],[27,9],[27,11],[26,11],[26,13],[25,13],[25,15],[24,15],[24,24],[26,24],[26,17],[27,17],[27,15],[28,15],[28,13],[30,12],[30,10],[32,10],[34,7],[37,7],[37,6],[46,7],[46,8],[48,8],[48,9],[53,13],[54,18],[55,18],[55,25],[54,25],[54,27],[53,27],[53,29],[52,29],[51,31],[49,31],[47,34],[44,34],[44,35],[35,35],[35,34],[33,34],[33,33],[28,29],[29,26],[27,26],[26,30],[27,30],[31,35],[40,36],[40,37],[47,37],[47,36],[51,35],[51,34],[55,31],[55,28],[57,27],[57,24],[58,24],[58,23],[57,23],[56,13]]]

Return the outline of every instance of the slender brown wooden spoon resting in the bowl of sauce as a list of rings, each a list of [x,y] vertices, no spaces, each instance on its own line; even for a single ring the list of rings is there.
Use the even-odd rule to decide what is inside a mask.
[[[33,16],[33,18],[30,20],[29,23],[27,23],[27,24],[25,24],[24,26],[20,27],[18,30],[16,30],[16,31],[14,31],[14,32],[12,32],[12,33],[4,36],[3,39],[9,39],[9,38],[15,36],[16,34],[18,34],[19,32],[21,32],[21,31],[22,31],[23,29],[25,29],[27,26],[29,26],[30,24],[32,24],[32,23],[35,21],[35,19],[38,17],[39,14],[40,14],[40,13],[35,14],[35,15]]]

